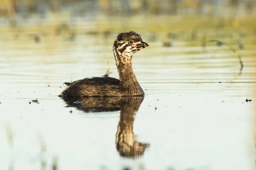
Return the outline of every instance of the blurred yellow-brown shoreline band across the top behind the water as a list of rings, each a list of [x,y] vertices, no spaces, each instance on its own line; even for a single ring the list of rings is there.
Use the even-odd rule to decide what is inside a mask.
[[[180,23],[194,27],[225,27],[256,25],[254,0],[6,0],[0,1],[0,25],[17,26],[52,22],[87,23],[89,21],[123,19],[133,21],[155,20]],[[129,18],[129,20],[125,20]],[[244,21],[245,23],[240,23]],[[209,25],[209,23],[212,23]],[[198,26],[197,26],[198,27]],[[112,29],[112,28],[111,28]]]

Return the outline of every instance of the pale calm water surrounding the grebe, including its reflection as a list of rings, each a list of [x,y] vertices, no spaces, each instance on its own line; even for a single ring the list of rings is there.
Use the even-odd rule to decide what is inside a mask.
[[[255,101],[245,101],[256,96],[252,45],[238,51],[239,74],[227,47],[211,44],[203,53],[143,36],[150,47],[134,54],[133,68],[144,98],[64,101],[64,82],[103,76],[107,62],[118,77],[117,33],[40,35],[39,42],[10,34],[0,37],[1,170],[254,169]]]

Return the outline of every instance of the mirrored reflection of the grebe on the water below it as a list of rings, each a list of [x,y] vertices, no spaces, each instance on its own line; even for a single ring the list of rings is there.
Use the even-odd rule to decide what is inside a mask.
[[[75,107],[80,111],[106,112],[119,111],[120,118],[116,132],[116,150],[127,158],[143,156],[149,143],[138,142],[134,138],[134,115],[139,110],[144,96],[128,97],[71,97],[65,98],[67,107]]]

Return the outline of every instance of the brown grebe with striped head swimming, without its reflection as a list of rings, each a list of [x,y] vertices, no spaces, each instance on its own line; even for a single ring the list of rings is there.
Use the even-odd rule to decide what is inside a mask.
[[[141,35],[134,32],[118,34],[113,44],[113,53],[119,79],[112,77],[93,77],[80,79],[72,83],[65,82],[67,89],[60,96],[141,96],[140,87],[132,69],[132,55],[148,44],[142,41]]]

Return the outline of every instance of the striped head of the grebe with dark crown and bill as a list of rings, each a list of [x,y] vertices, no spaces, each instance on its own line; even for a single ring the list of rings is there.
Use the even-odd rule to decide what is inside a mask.
[[[113,45],[113,52],[115,57],[125,57],[126,60],[131,60],[134,53],[148,46],[146,42],[142,41],[141,35],[137,32],[124,32],[117,35]]]

